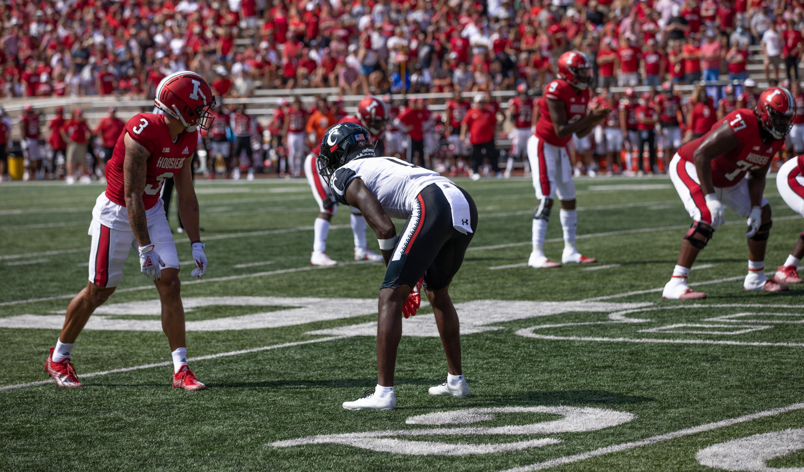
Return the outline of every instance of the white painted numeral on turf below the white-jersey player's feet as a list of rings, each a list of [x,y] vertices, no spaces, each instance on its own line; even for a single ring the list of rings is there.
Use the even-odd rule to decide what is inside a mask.
[[[459,428],[400,429],[396,431],[318,434],[316,436],[275,441],[265,446],[291,447],[311,444],[342,444],[393,454],[440,456],[490,454],[548,446],[550,444],[559,444],[562,441],[552,437],[545,437],[531,441],[469,445],[433,441],[407,441],[398,439],[397,437],[582,433],[610,428],[636,419],[636,415],[632,413],[620,412],[613,409],[577,406],[503,406],[426,413],[416,417],[408,417],[405,423],[408,425],[465,425],[467,423],[493,419],[495,417],[494,413],[548,413],[561,415],[561,418],[552,421],[539,421],[527,425],[462,426]]]

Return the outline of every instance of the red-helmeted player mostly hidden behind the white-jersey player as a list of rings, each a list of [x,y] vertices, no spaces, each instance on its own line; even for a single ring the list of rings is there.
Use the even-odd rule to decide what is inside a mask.
[[[355,123],[363,126],[371,132],[372,142],[377,142],[385,128],[388,120],[388,107],[385,102],[376,96],[367,96],[357,104],[357,113],[352,116],[344,116],[338,123]],[[329,128],[328,128],[329,129]],[[316,141],[318,142],[318,140]],[[318,146],[320,149],[320,146]],[[376,147],[375,147],[376,149]],[[382,153],[378,153],[383,156]],[[336,203],[330,193],[330,185],[318,173],[318,156],[313,153],[307,155],[305,159],[305,177],[310,189],[313,190],[313,197],[318,203],[318,216],[314,222],[314,244],[313,254],[310,254],[310,264],[313,266],[334,266],[337,262],[326,255],[326,238],[330,232],[330,222],[332,216],[338,213],[338,203]],[[376,261],[383,260],[383,256],[376,254],[368,249],[366,242],[366,220],[360,214],[360,210],[350,207],[352,235],[355,237],[355,261]]]

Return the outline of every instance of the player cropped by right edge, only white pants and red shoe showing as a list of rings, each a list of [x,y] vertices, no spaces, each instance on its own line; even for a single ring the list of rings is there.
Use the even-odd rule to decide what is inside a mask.
[[[796,213],[804,216],[804,156],[790,159],[776,174],[776,186],[785,203]],[[777,283],[802,283],[798,276],[798,263],[804,257],[804,232],[798,235],[793,252],[776,270],[773,280]]]

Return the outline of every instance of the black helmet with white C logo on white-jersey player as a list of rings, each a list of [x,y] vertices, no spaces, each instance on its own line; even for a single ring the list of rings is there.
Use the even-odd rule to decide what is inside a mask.
[[[339,167],[356,157],[374,157],[371,133],[355,123],[338,123],[326,130],[318,154],[318,173],[329,182]]]

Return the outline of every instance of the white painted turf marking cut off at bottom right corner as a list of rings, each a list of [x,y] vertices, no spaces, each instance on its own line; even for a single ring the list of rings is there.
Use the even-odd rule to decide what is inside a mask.
[[[804,429],[786,429],[720,442],[699,450],[698,454],[695,454],[695,461],[701,466],[719,470],[800,472],[804,467],[775,469],[765,465],[765,462],[773,458],[793,454],[799,450],[804,450]]]

